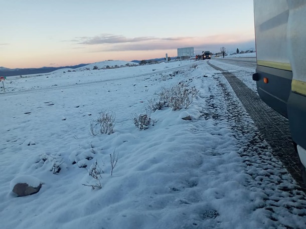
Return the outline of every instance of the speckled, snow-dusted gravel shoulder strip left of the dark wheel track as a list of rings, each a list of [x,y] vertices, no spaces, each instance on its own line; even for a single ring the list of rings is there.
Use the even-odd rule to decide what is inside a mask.
[[[216,69],[215,66],[212,67]],[[262,196],[261,203],[254,211],[267,215],[269,218],[266,221],[267,228],[305,228],[304,189],[296,184],[282,162],[273,157],[275,148],[267,144],[261,132],[255,127],[226,81],[229,77],[235,76],[225,74],[226,79],[220,75],[213,77],[223,92],[226,109],[219,113],[219,117],[218,115],[215,117],[220,120],[227,119],[235,133],[235,138],[240,142],[238,153],[245,163],[245,173],[249,175],[245,186],[251,192],[260,193]],[[213,104],[216,99],[219,98],[211,97],[210,101],[207,101],[211,104],[212,110],[214,110]]]

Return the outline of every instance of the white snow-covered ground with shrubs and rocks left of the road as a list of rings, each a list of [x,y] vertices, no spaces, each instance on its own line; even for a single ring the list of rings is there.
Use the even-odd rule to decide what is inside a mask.
[[[267,143],[250,146],[248,159],[241,156],[249,136],[228,119],[232,111],[221,84],[236,104],[239,123],[250,133],[256,128],[207,61],[93,66],[5,81],[1,228],[305,228],[305,194],[295,191]],[[239,77],[251,78],[234,68]],[[151,112],[155,125],[136,128],[133,117],[145,113],[148,100],[180,82],[199,90],[193,103]],[[90,124],[102,110],[115,114],[114,133],[92,136]],[[182,119],[188,115],[191,120]],[[260,150],[264,155],[258,158]],[[111,175],[114,152],[118,161]],[[263,158],[269,162],[261,163]],[[101,189],[83,185],[99,182],[89,175],[95,162]],[[54,164],[61,168],[56,174]],[[12,184],[23,177],[39,179],[41,190],[17,197]]]

